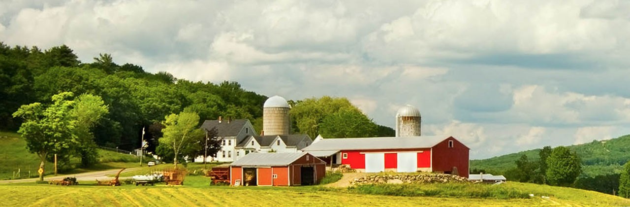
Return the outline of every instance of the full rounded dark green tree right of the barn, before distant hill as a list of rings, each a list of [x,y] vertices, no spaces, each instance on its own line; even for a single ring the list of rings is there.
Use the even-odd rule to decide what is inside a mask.
[[[547,183],[552,186],[571,186],[581,173],[580,157],[569,148],[558,146],[547,158]]]

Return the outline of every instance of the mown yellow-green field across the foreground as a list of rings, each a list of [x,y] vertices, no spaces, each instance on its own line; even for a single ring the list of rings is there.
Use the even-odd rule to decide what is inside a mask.
[[[0,185],[8,206],[629,206],[630,200],[593,191],[537,184],[490,186],[533,193],[525,199],[441,198],[359,194],[350,189],[208,186],[189,176],[186,186]],[[43,193],[45,192],[45,193]],[[11,196],[19,194],[20,196]],[[63,199],[60,199],[63,196]],[[541,198],[549,196],[550,198]]]

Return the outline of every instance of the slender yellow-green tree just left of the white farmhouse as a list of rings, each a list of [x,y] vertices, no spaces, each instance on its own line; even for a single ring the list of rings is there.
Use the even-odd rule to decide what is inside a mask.
[[[178,158],[183,151],[195,148],[198,138],[204,136],[199,126],[199,115],[195,112],[181,112],[164,117],[164,136],[159,139],[159,147],[173,151],[173,163],[177,168]]]

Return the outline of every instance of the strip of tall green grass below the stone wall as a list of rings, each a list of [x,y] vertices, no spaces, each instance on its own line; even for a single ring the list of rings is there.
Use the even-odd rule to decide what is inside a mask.
[[[452,198],[529,198],[513,187],[486,184],[369,184],[348,187],[351,192],[386,196],[435,196]]]

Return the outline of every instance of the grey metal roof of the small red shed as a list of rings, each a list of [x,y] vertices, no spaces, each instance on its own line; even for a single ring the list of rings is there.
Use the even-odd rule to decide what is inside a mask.
[[[287,166],[307,154],[306,152],[249,153],[236,162],[232,162],[231,166]]]

